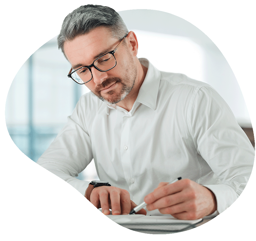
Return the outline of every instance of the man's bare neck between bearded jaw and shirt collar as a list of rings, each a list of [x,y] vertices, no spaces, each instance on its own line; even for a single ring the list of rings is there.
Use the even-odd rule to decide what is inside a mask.
[[[138,68],[138,71],[134,86],[131,92],[123,100],[117,103],[118,106],[124,108],[127,111],[130,111],[132,109],[132,106],[139,94],[140,86],[142,85],[147,73],[147,68],[139,62],[138,58],[136,60],[136,66]]]

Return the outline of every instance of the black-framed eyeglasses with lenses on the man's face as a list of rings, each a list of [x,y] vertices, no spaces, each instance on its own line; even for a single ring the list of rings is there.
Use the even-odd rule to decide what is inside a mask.
[[[126,36],[127,35],[122,38],[120,43],[125,39]],[[120,43],[117,44],[114,50],[107,52],[106,54],[95,59],[91,65],[83,66],[76,70],[73,70],[71,68],[68,73],[68,77],[77,82],[78,84],[82,85],[92,80],[92,66],[101,72],[106,72],[113,69],[116,66],[116,58],[114,56],[114,53],[116,52],[117,47],[120,45]]]

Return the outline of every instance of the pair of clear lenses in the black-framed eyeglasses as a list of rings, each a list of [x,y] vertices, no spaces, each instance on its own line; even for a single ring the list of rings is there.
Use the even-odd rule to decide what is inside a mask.
[[[107,71],[112,69],[116,65],[116,59],[112,54],[105,54],[102,57],[96,59],[94,61],[94,66],[96,66],[99,70]],[[87,67],[83,67],[78,69],[71,77],[77,81],[78,83],[85,83],[92,79],[92,73]]]

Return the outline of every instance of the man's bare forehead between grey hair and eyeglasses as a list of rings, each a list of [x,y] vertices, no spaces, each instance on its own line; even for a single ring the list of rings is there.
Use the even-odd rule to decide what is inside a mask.
[[[90,65],[100,53],[113,50],[117,42],[109,29],[99,27],[65,42],[64,53],[72,66]]]

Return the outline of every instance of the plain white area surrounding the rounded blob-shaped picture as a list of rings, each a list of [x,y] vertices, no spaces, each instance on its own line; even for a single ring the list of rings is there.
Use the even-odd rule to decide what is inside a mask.
[[[184,18],[203,31],[231,66],[255,127],[255,6],[254,1],[93,1],[116,11],[154,9]],[[88,1],[5,1],[1,4],[1,228],[3,240],[95,240],[157,238],[113,223],[91,207],[70,185],[26,157],[12,142],[5,126],[5,100],[22,64],[56,36],[64,17]],[[132,17],[132,16],[131,16]],[[8,69],[8,71],[6,71]],[[232,239],[254,234],[255,168],[237,201],[214,220],[162,240]],[[100,231],[99,231],[100,229]],[[90,235],[89,235],[90,236]],[[152,237],[153,236],[153,237]]]

